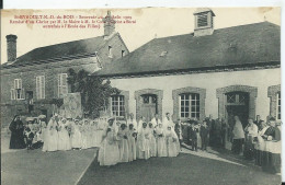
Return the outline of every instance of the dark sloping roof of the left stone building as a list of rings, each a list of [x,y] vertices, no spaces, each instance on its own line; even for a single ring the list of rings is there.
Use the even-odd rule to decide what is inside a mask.
[[[116,34],[118,35],[118,33]],[[16,58],[16,61],[12,65],[3,63],[2,67],[18,67],[32,65],[34,62],[47,62],[50,60],[57,61],[60,59],[80,58],[83,56],[88,57],[90,54],[95,54],[95,51],[99,51],[99,49],[107,42],[109,39],[104,39],[103,36],[98,36],[93,38],[38,47]]]

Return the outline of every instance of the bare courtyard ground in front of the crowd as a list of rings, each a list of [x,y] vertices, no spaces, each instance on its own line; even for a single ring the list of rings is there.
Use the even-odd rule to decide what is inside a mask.
[[[9,150],[1,136],[3,185],[277,185],[281,176],[267,174],[251,162],[214,150],[183,148],[176,158],[151,158],[115,166],[99,166],[96,149],[42,152]]]

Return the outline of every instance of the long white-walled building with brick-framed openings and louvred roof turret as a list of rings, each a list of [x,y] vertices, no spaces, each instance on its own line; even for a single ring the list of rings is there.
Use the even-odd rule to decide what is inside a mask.
[[[173,120],[196,117],[229,120],[272,115],[281,119],[281,27],[270,22],[215,30],[215,13],[194,13],[191,34],[153,38],[93,73],[122,92],[110,112],[155,113]],[[190,31],[191,32],[191,31]]]

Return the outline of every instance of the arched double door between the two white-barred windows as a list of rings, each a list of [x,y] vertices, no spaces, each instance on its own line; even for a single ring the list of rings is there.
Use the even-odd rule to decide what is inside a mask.
[[[141,116],[146,118],[146,122],[150,122],[155,114],[158,113],[157,108],[157,95],[155,94],[144,94],[141,95]]]

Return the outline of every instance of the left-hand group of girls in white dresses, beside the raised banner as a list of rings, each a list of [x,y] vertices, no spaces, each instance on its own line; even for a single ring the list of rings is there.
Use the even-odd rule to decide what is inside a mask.
[[[105,119],[65,118],[55,114],[43,130],[43,151],[100,147]]]

